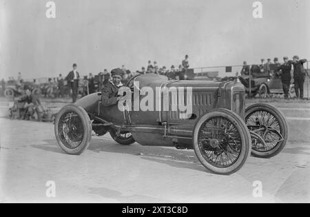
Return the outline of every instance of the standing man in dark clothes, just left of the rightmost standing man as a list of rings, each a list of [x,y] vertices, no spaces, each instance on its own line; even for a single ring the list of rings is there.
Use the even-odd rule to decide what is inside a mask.
[[[284,63],[279,66],[278,70],[280,72],[282,88],[285,94],[285,99],[289,98],[289,85],[291,85],[291,62],[289,57],[283,57]]]

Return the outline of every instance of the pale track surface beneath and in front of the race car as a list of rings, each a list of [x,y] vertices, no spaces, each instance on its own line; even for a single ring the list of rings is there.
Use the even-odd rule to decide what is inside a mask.
[[[289,142],[271,159],[250,157],[236,174],[211,174],[191,150],[118,145],[93,137],[81,156],[64,154],[54,125],[0,118],[0,202],[310,202],[310,147]],[[56,197],[45,184],[54,181]],[[254,197],[254,181],[262,197]]]

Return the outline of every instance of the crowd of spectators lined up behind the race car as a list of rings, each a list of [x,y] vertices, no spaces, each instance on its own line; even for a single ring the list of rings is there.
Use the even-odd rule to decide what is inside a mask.
[[[279,63],[278,58],[260,60],[259,65],[248,65],[246,61],[243,62],[243,67],[240,72],[241,76],[251,76],[253,79],[260,76],[273,76],[280,77],[282,81],[282,88],[285,94],[285,98],[288,98],[289,86],[294,83],[296,96],[302,99],[303,96],[303,84],[304,77],[307,75],[303,64],[307,62],[306,59],[299,59],[298,56],[293,56],[291,60],[287,56],[283,57],[283,63]],[[41,94],[43,96],[54,96],[54,97],[65,97],[72,96],[72,102],[74,103],[77,96],[81,94],[82,96],[86,94],[92,94],[94,92],[101,91],[104,85],[112,82],[111,73],[104,69],[103,72],[99,74],[88,74],[88,76],[83,76],[77,71],[77,64],[72,65],[72,71],[68,73],[67,76],[59,74],[57,78],[50,78],[45,86],[41,86]],[[121,83],[126,84],[134,74],[160,74],[169,77],[169,79],[185,80],[187,79],[187,70],[189,69],[189,56],[185,55],[183,61],[180,62],[178,67],[171,65],[169,68],[166,66],[158,66],[157,61],[148,61],[147,65],[141,67],[141,70],[136,70],[136,72],[131,72],[125,65],[119,68],[122,72]],[[291,69],[293,69],[293,74],[291,75]],[[25,92],[25,90],[33,91],[34,85],[39,85],[36,79],[32,83],[24,82],[21,77],[21,72],[17,75],[17,80],[13,77],[8,79],[8,82],[1,80],[1,92],[2,94],[6,90],[6,85],[16,86],[18,92]]]

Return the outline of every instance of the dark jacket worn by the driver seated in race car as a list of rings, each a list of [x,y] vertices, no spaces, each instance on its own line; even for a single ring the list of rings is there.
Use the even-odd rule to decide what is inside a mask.
[[[114,85],[114,83],[112,82],[105,84],[101,90],[102,105],[105,107],[110,106],[110,105],[116,105],[118,89],[122,86],[123,86],[122,83],[120,83],[117,86]]]

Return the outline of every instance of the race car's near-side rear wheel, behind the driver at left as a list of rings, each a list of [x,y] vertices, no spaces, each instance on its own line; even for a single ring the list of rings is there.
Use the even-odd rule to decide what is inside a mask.
[[[90,145],[92,124],[82,107],[63,107],[56,115],[54,130],[57,143],[67,154],[79,155]]]

